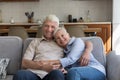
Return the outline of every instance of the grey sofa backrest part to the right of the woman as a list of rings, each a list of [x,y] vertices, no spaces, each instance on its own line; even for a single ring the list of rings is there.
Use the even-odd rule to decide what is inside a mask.
[[[103,46],[103,41],[100,37],[81,37],[84,41],[91,41],[93,44],[92,54],[94,57],[106,67],[106,57]]]

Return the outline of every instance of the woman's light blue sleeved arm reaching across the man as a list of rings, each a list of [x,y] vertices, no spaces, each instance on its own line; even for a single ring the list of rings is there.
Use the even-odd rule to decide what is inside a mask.
[[[68,65],[71,65],[75,63],[77,60],[79,60],[80,56],[83,54],[83,51],[85,49],[84,41],[80,38],[76,38],[74,42],[72,42],[70,45],[70,49],[67,51],[67,56],[60,59],[60,63],[62,67],[66,67]]]

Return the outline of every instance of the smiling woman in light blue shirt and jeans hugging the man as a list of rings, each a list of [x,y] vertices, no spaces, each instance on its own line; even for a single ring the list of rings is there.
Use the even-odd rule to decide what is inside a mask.
[[[56,60],[56,64],[68,69],[66,80],[105,80],[105,68],[94,58],[92,53],[87,66],[79,65],[78,59],[85,49],[83,40],[70,38],[64,28],[56,29],[54,38],[57,44],[64,48],[65,57]]]

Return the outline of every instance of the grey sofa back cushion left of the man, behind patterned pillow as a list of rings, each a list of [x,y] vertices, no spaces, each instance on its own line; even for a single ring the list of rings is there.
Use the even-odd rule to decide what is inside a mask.
[[[15,36],[0,37],[0,58],[9,58],[8,74],[15,74],[21,66],[22,39]]]

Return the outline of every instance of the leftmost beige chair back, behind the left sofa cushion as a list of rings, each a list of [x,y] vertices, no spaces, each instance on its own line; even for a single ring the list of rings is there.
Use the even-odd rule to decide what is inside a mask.
[[[23,40],[28,38],[28,33],[26,32],[24,27],[10,27],[8,36],[19,36]]]

